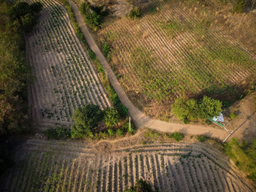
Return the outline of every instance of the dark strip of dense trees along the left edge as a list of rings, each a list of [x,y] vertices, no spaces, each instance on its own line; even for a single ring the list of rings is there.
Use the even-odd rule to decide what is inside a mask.
[[[8,135],[24,130],[28,124],[26,83],[32,75],[23,32],[31,29],[31,16],[41,10],[41,3],[0,5],[0,135]]]

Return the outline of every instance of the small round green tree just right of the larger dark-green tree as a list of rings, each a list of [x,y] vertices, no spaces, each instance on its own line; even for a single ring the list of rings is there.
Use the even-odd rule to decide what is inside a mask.
[[[103,121],[107,127],[116,126],[120,122],[118,111],[114,108],[107,108],[105,110]]]

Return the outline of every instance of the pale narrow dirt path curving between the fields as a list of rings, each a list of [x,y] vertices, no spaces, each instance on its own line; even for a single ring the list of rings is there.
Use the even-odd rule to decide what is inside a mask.
[[[132,117],[134,123],[139,128],[146,126],[148,128],[158,130],[161,132],[180,132],[185,134],[192,134],[192,135],[200,135],[204,134],[205,136],[215,137],[218,139],[225,139],[229,133],[225,130],[216,130],[210,126],[203,126],[203,125],[184,125],[178,123],[167,123],[161,120],[154,120],[139,111],[135,105],[130,101],[130,99],[126,96],[126,93],[123,91],[120,83],[117,81],[117,78],[114,75],[114,72],[111,70],[111,67],[108,65],[105,56],[103,56],[102,52],[99,50],[99,47],[96,45],[96,42],[93,40],[92,35],[90,35],[87,26],[84,23],[84,19],[81,16],[81,13],[78,9],[78,6],[75,5],[74,2],[70,1],[72,9],[75,14],[75,18],[78,22],[78,26],[80,26],[81,31],[84,33],[84,37],[89,44],[89,47],[93,52],[96,54],[99,62],[105,69],[106,75],[108,76],[109,81],[111,82],[114,90],[116,91],[117,95],[119,96],[120,101],[126,108],[129,108],[129,114]]]

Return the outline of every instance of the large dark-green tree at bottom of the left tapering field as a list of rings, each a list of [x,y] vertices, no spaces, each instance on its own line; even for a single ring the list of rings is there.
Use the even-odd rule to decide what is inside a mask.
[[[83,138],[91,136],[99,121],[103,118],[103,112],[98,105],[92,103],[77,108],[72,115],[72,120],[75,121],[75,126],[72,126],[72,138]]]

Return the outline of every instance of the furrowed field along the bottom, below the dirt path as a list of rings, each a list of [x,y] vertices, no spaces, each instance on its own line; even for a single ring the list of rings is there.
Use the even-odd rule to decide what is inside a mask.
[[[138,142],[139,140],[139,142]],[[0,179],[8,191],[123,191],[143,178],[160,191],[253,191],[224,154],[198,142],[29,139]]]

